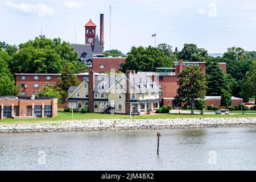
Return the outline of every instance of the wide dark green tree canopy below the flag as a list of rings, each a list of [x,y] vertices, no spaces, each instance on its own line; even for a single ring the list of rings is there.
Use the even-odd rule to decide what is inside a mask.
[[[123,72],[129,69],[150,72],[156,71],[157,67],[172,67],[172,64],[170,58],[158,48],[139,46],[131,48],[131,51],[127,53],[125,63],[121,63],[121,66]]]

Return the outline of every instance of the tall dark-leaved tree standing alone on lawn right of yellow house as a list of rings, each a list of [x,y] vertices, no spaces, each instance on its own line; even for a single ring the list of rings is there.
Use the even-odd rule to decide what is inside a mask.
[[[177,84],[177,100],[181,100],[185,104],[191,105],[191,114],[194,114],[195,99],[204,100],[207,89],[207,81],[205,75],[199,67],[188,66],[178,77]]]

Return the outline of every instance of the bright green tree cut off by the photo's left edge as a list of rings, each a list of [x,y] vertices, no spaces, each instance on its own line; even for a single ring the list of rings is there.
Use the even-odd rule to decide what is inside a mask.
[[[0,48],[0,96],[15,96],[18,93],[7,65],[9,60],[8,53]]]

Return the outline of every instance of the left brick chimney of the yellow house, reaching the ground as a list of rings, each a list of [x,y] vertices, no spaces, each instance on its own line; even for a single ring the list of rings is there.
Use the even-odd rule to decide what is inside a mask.
[[[94,112],[94,88],[95,88],[95,74],[93,70],[89,70],[89,86],[88,86],[88,105],[89,105],[89,113]]]

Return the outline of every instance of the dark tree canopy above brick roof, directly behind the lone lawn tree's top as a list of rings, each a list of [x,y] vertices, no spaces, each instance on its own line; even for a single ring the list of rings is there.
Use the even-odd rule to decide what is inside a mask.
[[[183,49],[177,55],[184,61],[207,61],[208,59],[207,50],[198,48],[196,44],[184,44]]]

